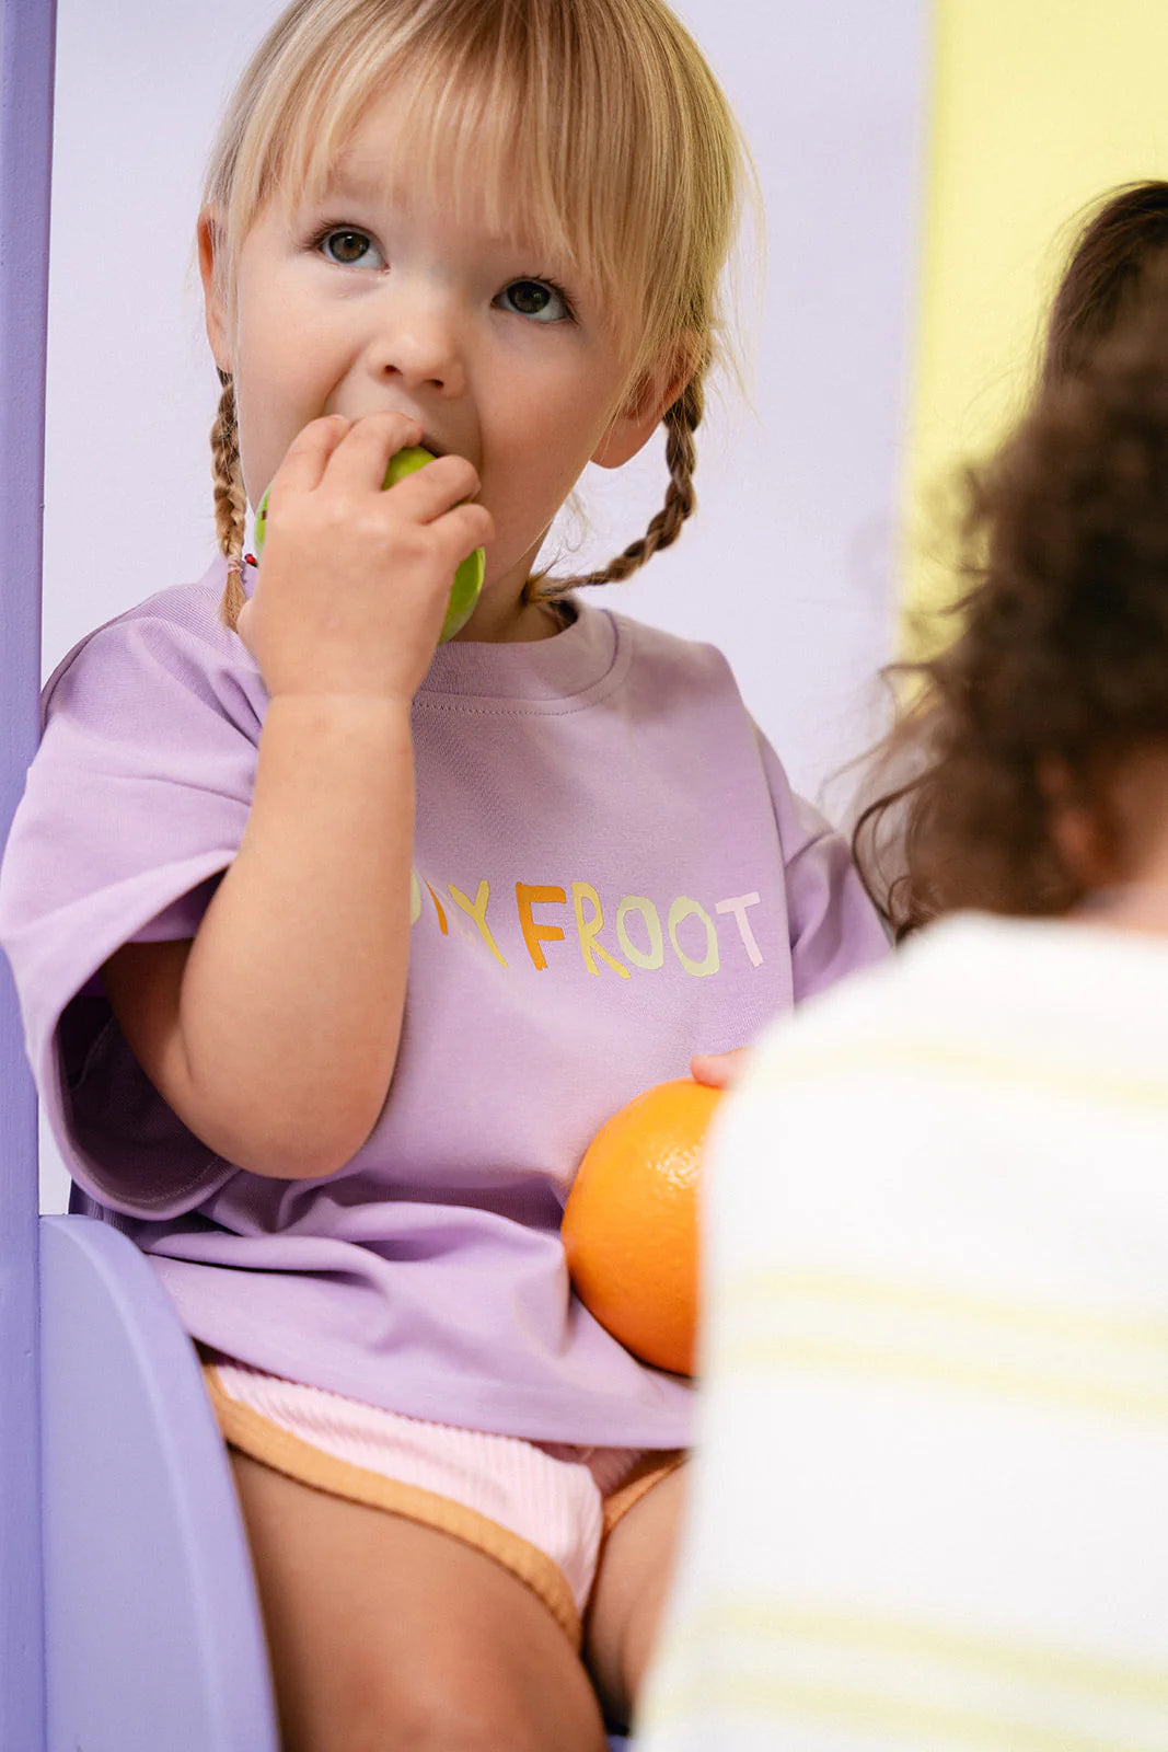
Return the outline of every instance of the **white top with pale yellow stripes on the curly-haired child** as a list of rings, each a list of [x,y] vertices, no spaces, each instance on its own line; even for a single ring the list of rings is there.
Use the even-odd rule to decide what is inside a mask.
[[[639,1748],[1168,1747],[1164,993],[965,916],[767,1035]]]

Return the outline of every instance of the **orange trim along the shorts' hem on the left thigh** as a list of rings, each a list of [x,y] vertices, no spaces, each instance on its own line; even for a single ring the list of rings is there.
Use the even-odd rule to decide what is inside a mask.
[[[580,1647],[583,1629],[567,1577],[538,1545],[511,1533],[510,1528],[499,1526],[497,1521],[480,1515],[475,1508],[466,1508],[450,1496],[426,1491],[419,1484],[399,1484],[380,1472],[354,1466],[348,1459],[338,1459],[310,1442],[301,1442],[299,1437],[270,1423],[250,1405],[233,1400],[219,1381],[214,1363],[203,1363],[203,1379],[229,1447],[250,1454],[252,1459],[296,1479],[298,1484],[308,1484],[313,1491],[327,1491],[329,1496],[343,1496],[352,1503],[364,1503],[368,1508],[383,1508],[391,1515],[403,1515],[420,1526],[450,1533],[464,1545],[482,1551],[531,1587],[566,1636]]]

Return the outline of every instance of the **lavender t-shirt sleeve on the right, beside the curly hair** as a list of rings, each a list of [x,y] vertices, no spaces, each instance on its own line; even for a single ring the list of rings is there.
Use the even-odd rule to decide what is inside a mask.
[[[765,736],[762,760],[783,844],[795,1002],[813,997],[890,951],[888,932],[867,895],[842,834],[790,787]]]

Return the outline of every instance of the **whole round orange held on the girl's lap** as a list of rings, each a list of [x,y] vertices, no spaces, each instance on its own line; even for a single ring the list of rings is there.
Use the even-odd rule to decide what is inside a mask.
[[[657,1368],[693,1374],[697,1183],[721,1090],[678,1077],[613,1114],[588,1144],[564,1207],[576,1295]]]

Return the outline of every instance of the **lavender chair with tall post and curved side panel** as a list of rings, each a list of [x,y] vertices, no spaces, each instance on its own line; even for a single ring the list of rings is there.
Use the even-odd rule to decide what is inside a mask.
[[[0,0],[0,843],[39,734],[54,26],[54,0]],[[0,1747],[278,1748],[191,1344],[124,1235],[39,1218],[37,1107],[2,957]]]

